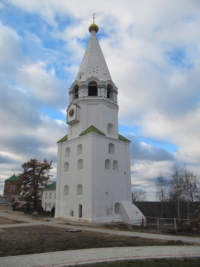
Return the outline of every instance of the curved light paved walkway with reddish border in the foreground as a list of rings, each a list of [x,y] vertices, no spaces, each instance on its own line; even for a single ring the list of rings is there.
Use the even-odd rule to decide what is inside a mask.
[[[2,257],[0,266],[36,267],[36,266],[74,266],[92,263],[110,263],[124,260],[150,260],[161,258],[197,258],[198,246],[149,246],[81,249],[50,252],[23,256]]]

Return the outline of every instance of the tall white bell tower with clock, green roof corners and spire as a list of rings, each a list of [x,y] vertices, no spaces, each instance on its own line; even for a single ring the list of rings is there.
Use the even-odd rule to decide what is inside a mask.
[[[130,140],[118,133],[118,88],[96,33],[69,89],[68,133],[58,144],[55,218],[146,223],[131,202]],[[47,203],[47,202],[46,202]]]

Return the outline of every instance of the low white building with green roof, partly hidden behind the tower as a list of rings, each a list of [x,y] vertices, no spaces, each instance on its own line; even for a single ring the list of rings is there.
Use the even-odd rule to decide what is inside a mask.
[[[56,182],[53,182],[43,188],[42,207],[44,210],[51,211],[53,205],[55,206],[56,199]]]

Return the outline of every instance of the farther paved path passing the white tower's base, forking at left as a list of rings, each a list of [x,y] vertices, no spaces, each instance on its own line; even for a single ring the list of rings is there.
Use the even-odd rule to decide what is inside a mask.
[[[68,228],[68,229],[81,229],[90,232],[97,232],[97,233],[105,233],[105,234],[117,234],[117,235],[124,235],[124,236],[132,236],[132,237],[142,237],[142,238],[151,238],[151,239],[159,239],[159,240],[181,240],[183,242],[188,243],[196,243],[200,244],[200,238],[195,237],[185,237],[185,236],[176,236],[176,235],[163,235],[163,234],[149,234],[149,233],[140,233],[140,232],[133,232],[133,231],[118,231],[118,230],[109,230],[109,229],[101,229],[101,228],[94,228],[94,227],[87,227],[87,226],[75,226],[75,225],[65,225],[62,223],[66,223],[66,220],[60,219],[51,219],[50,222],[38,221],[38,220],[31,220],[11,214],[6,214],[0,211],[1,216],[5,216],[12,219],[18,219],[21,221],[28,221],[30,223],[17,223],[17,224],[6,224],[0,225],[1,228],[8,228],[8,227],[19,227],[19,226],[35,226],[35,225],[49,225],[54,227],[61,227],[61,228]],[[72,221],[70,221],[73,223]]]

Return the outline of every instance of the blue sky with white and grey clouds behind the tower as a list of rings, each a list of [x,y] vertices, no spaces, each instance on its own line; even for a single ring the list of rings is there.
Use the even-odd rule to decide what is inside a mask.
[[[53,159],[67,134],[69,88],[97,38],[131,140],[132,189],[155,199],[161,170],[200,177],[200,2],[0,0],[0,193],[31,158]]]

